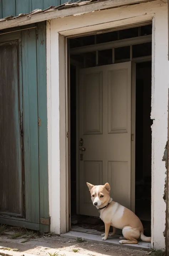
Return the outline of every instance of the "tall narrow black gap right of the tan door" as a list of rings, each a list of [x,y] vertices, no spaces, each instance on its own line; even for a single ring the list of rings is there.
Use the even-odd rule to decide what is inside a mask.
[[[151,70],[150,61],[138,63],[136,66],[135,214],[149,230],[152,156]]]

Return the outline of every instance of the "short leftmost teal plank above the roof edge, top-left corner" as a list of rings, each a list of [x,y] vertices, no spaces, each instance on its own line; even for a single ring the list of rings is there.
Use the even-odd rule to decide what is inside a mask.
[[[16,16],[16,1],[2,0],[2,18],[5,18],[10,15]]]

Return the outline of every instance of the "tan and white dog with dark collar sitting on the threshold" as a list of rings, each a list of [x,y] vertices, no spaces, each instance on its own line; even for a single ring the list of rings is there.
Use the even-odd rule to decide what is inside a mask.
[[[151,241],[151,237],[144,236],[143,225],[140,219],[131,210],[114,202],[110,197],[110,186],[108,183],[98,186],[94,186],[88,182],[86,184],[91,193],[93,205],[99,210],[100,218],[105,225],[105,233],[101,235],[104,236],[102,240],[107,240],[109,228],[112,226],[113,233],[110,236],[114,236],[116,228],[122,229],[124,237],[120,237],[122,240],[119,243],[121,244],[137,244],[139,237],[142,241]]]

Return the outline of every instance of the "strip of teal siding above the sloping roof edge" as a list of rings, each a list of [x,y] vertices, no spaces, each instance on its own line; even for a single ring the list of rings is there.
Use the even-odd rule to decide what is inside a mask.
[[[73,3],[77,0],[71,0]],[[61,5],[68,0],[0,0],[0,18],[30,13],[35,9],[46,9],[51,5]]]

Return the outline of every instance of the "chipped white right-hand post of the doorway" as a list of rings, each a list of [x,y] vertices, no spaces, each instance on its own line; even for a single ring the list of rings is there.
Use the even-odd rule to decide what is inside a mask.
[[[162,162],[168,127],[168,15],[159,8],[153,19],[153,84],[152,84],[152,236],[154,248],[164,249],[165,209],[163,200],[165,162]]]

